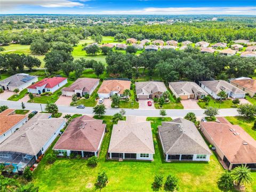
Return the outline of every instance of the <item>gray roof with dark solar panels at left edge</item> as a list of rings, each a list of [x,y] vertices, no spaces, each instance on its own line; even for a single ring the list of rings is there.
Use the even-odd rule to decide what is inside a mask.
[[[28,81],[31,81],[31,79],[34,78],[36,78],[36,76],[27,74],[15,74],[0,81],[0,84],[8,84],[9,87],[19,87],[27,83],[27,79],[29,79]]]

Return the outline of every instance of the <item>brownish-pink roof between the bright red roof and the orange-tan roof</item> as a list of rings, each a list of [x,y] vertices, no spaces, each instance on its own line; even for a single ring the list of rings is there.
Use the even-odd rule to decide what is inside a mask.
[[[63,91],[75,91],[82,90],[84,92],[89,92],[91,89],[100,81],[100,79],[95,78],[78,78],[69,87],[64,87]]]

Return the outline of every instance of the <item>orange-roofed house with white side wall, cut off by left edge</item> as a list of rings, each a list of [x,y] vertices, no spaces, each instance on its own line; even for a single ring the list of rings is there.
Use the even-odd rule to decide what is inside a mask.
[[[0,113],[0,143],[9,138],[27,121],[27,115],[15,114],[14,109],[6,109]]]

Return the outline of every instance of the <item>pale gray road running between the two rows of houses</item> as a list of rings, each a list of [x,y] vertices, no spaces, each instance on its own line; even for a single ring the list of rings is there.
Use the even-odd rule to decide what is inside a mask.
[[[7,101],[0,100],[0,106],[6,105],[11,109],[21,109],[21,102],[19,101]],[[39,103],[25,103],[26,109],[41,111],[45,109],[45,104]],[[58,105],[60,113],[70,113],[70,114],[86,114],[93,115],[92,107],[85,107],[85,109],[77,109],[76,107],[67,107]],[[111,108],[106,110],[105,115],[114,115],[120,109]],[[159,109],[125,109],[126,115],[135,115],[135,116],[145,116],[145,117],[160,117]],[[168,117],[184,117],[187,113],[193,112],[197,117],[204,117],[204,109],[166,109]],[[230,109],[220,109],[218,116],[237,116],[237,110],[235,108]]]

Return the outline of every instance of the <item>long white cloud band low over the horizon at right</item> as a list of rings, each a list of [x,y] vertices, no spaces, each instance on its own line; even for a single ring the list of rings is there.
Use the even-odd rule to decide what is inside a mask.
[[[102,14],[236,14],[256,15],[256,7],[147,7],[142,10],[101,11]]]

